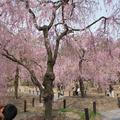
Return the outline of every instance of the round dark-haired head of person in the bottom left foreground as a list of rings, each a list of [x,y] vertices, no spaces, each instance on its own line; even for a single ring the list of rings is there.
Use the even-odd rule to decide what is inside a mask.
[[[4,120],[13,120],[17,115],[17,108],[13,104],[7,104],[3,109]]]

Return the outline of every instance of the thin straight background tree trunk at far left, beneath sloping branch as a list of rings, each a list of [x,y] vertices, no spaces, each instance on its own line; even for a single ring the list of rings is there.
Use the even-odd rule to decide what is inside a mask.
[[[14,95],[16,99],[18,98],[18,82],[19,82],[19,68],[17,67],[15,81],[14,81],[14,89],[15,89]]]

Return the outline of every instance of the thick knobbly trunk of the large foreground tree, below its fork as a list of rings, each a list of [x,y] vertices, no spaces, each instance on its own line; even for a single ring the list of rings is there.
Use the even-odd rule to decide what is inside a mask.
[[[47,72],[44,75],[44,93],[43,100],[45,106],[45,120],[52,120],[52,102],[54,98],[53,93],[53,81],[55,79],[55,75],[53,72],[53,65],[49,64],[47,68]]]

